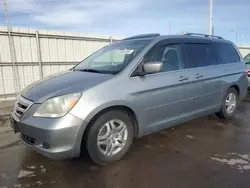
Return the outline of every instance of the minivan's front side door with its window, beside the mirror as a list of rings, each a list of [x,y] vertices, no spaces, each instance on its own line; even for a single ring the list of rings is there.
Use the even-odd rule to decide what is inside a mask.
[[[162,61],[162,72],[131,79],[131,88],[136,88],[133,100],[139,105],[145,134],[182,122],[196,109],[197,88],[192,83],[192,73],[185,67],[181,46],[178,41],[159,42],[142,63]]]

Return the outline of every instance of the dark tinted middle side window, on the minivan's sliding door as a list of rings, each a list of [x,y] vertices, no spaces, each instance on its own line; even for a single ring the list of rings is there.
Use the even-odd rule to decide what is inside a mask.
[[[187,68],[215,65],[215,54],[212,44],[184,44]]]

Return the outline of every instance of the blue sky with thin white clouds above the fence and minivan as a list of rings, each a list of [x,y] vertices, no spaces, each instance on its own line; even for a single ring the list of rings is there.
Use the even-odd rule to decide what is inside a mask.
[[[5,25],[0,0],[0,25]],[[209,0],[8,0],[11,26],[118,36],[208,33]],[[214,0],[214,34],[250,45],[250,0]]]

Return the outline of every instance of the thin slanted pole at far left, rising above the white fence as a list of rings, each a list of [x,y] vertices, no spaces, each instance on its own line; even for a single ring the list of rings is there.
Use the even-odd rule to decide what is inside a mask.
[[[5,10],[5,18],[6,18],[6,25],[8,30],[8,38],[9,38],[9,48],[10,48],[10,57],[12,62],[12,73],[13,73],[13,79],[14,79],[14,88],[15,92],[18,95],[19,92],[19,75],[16,67],[16,53],[14,48],[14,41],[11,37],[11,26],[9,23],[9,14],[8,14],[8,2],[7,0],[4,0],[4,10]]]

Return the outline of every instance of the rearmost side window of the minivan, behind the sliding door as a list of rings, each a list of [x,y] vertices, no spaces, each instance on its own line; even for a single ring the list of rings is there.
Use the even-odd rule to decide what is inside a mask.
[[[218,53],[219,64],[240,62],[239,55],[232,44],[216,43],[215,46]]]

